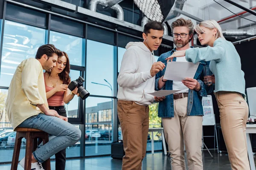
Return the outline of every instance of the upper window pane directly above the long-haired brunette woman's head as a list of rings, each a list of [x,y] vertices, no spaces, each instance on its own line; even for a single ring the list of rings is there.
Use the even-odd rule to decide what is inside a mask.
[[[84,62],[82,60],[82,38],[50,31],[49,43],[54,44],[55,47],[61,51],[65,51],[70,59],[71,65],[84,66]]]

